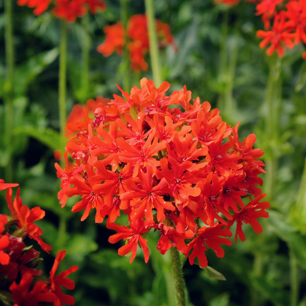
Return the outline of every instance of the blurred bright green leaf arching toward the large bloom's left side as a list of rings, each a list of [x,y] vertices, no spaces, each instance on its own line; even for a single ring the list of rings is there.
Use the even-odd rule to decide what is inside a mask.
[[[15,135],[27,135],[45,144],[52,150],[61,147],[60,135],[52,129],[37,129],[35,126],[18,126],[13,130]]]

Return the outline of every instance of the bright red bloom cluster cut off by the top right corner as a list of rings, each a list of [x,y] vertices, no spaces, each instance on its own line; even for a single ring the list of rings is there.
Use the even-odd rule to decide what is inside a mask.
[[[219,3],[234,5],[240,0],[219,0]],[[267,45],[267,55],[274,51],[283,57],[286,48],[296,44],[306,43],[306,0],[247,0],[256,2],[256,15],[262,16],[265,31],[257,31],[262,38],[261,48]],[[272,21],[272,22],[271,22]],[[302,54],[306,59],[306,52]]]

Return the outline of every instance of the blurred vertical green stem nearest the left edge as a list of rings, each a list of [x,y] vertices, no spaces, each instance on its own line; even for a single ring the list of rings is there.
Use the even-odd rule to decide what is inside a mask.
[[[13,179],[13,162],[12,162],[12,130],[14,118],[14,45],[13,45],[13,2],[5,1],[5,52],[6,52],[6,83],[5,83],[5,135],[4,143],[8,153],[5,180],[11,182]]]

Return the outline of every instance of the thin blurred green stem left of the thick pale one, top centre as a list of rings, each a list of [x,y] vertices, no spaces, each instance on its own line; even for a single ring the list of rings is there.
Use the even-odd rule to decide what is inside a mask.
[[[123,60],[122,60],[122,75],[123,75],[123,90],[124,91],[129,91],[130,88],[130,61],[129,61],[129,50],[127,49],[127,35],[126,35],[126,30],[127,30],[127,19],[128,19],[128,14],[127,14],[127,8],[130,0],[120,0],[120,14],[121,14],[121,22],[123,25],[124,29],[124,46],[123,46]]]

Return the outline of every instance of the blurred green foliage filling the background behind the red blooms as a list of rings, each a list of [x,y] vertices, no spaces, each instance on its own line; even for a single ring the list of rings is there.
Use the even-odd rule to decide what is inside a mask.
[[[12,5],[15,73],[8,113],[7,16],[0,2],[0,177],[20,184],[23,203],[46,211],[37,222],[43,239],[53,246],[50,256],[43,254],[45,271],[57,250],[66,249],[62,269],[80,267],[72,275],[75,305],[174,306],[169,254],[161,256],[155,249],[154,233],[149,234],[149,262],[145,264],[140,254],[130,265],[130,258],[117,254],[120,244],[108,243],[112,231],[104,223],[95,224],[93,215],[81,222],[81,212],[70,212],[71,201],[60,208],[60,182],[54,168],[54,150],[60,147],[60,20],[50,12],[34,16],[32,9],[13,0]],[[142,77],[152,78],[150,64],[148,71],[135,73],[126,71],[117,54],[105,58],[97,53],[105,39],[103,27],[122,18],[122,6],[127,16],[145,11],[140,1],[107,1],[105,12],[67,24],[68,113],[74,104],[85,104],[89,98],[119,94],[116,84],[129,85],[124,89],[130,90],[139,86]],[[169,23],[178,47],[177,52],[171,47],[160,52],[162,78],[171,84],[170,90],[186,85],[193,98],[199,96],[219,108],[228,123],[241,121],[241,140],[256,133],[256,145],[266,152],[263,188],[271,209],[262,222],[264,231],[257,235],[245,226],[246,241],[224,246],[222,259],[208,251],[209,265],[226,281],[185,263],[189,301],[194,306],[306,305],[304,47],[287,51],[282,59],[267,57],[256,37],[263,24],[254,12],[254,5],[244,2],[227,8],[209,0],[155,1],[156,17]],[[87,70],[84,47],[90,55]],[[149,56],[146,60],[149,63]],[[4,193],[0,196],[1,211],[7,212]]]

